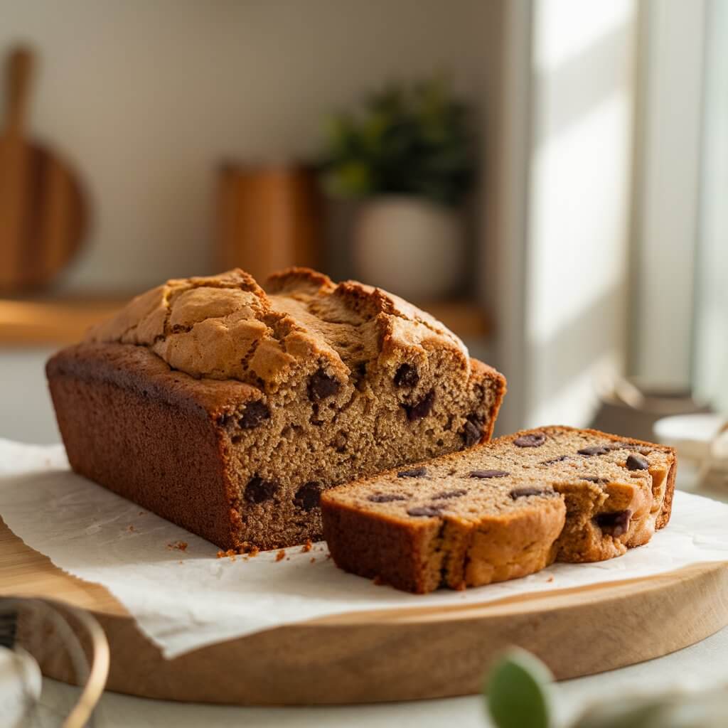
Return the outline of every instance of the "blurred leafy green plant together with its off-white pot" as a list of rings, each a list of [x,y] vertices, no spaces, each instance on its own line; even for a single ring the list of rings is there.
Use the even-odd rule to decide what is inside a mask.
[[[475,159],[467,108],[440,79],[390,85],[330,120],[325,189],[363,200],[353,258],[366,282],[415,299],[462,282],[462,203]]]

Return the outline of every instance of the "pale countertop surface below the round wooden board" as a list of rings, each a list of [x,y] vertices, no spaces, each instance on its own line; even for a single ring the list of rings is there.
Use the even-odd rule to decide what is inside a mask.
[[[254,658],[253,658],[254,659]],[[230,666],[234,670],[234,665]],[[301,679],[306,679],[302,675]],[[728,628],[687,649],[621,670],[564,681],[554,688],[558,715],[569,719],[593,700],[620,700],[636,692],[676,688],[703,689],[728,685]],[[43,705],[68,705],[70,689],[44,681]],[[41,711],[39,728],[51,728],[56,717]],[[57,714],[56,714],[57,715]],[[491,725],[480,697],[418,700],[411,703],[351,705],[327,708],[235,708],[142,700],[106,693],[96,713],[97,728],[486,728]]]

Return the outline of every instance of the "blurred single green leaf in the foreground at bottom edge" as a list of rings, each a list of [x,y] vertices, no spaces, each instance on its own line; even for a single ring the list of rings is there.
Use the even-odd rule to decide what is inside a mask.
[[[550,670],[523,649],[505,652],[491,669],[485,692],[498,728],[549,728]]]

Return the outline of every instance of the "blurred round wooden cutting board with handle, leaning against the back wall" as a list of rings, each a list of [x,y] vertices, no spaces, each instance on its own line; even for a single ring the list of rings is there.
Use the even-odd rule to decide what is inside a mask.
[[[87,214],[79,181],[52,149],[27,138],[33,54],[7,61],[0,122],[0,291],[50,282],[82,242]]]

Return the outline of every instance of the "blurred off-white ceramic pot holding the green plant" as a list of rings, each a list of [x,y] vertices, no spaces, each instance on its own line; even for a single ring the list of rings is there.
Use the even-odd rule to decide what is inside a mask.
[[[462,219],[448,207],[377,197],[359,210],[353,244],[357,277],[403,298],[443,298],[462,283]]]

